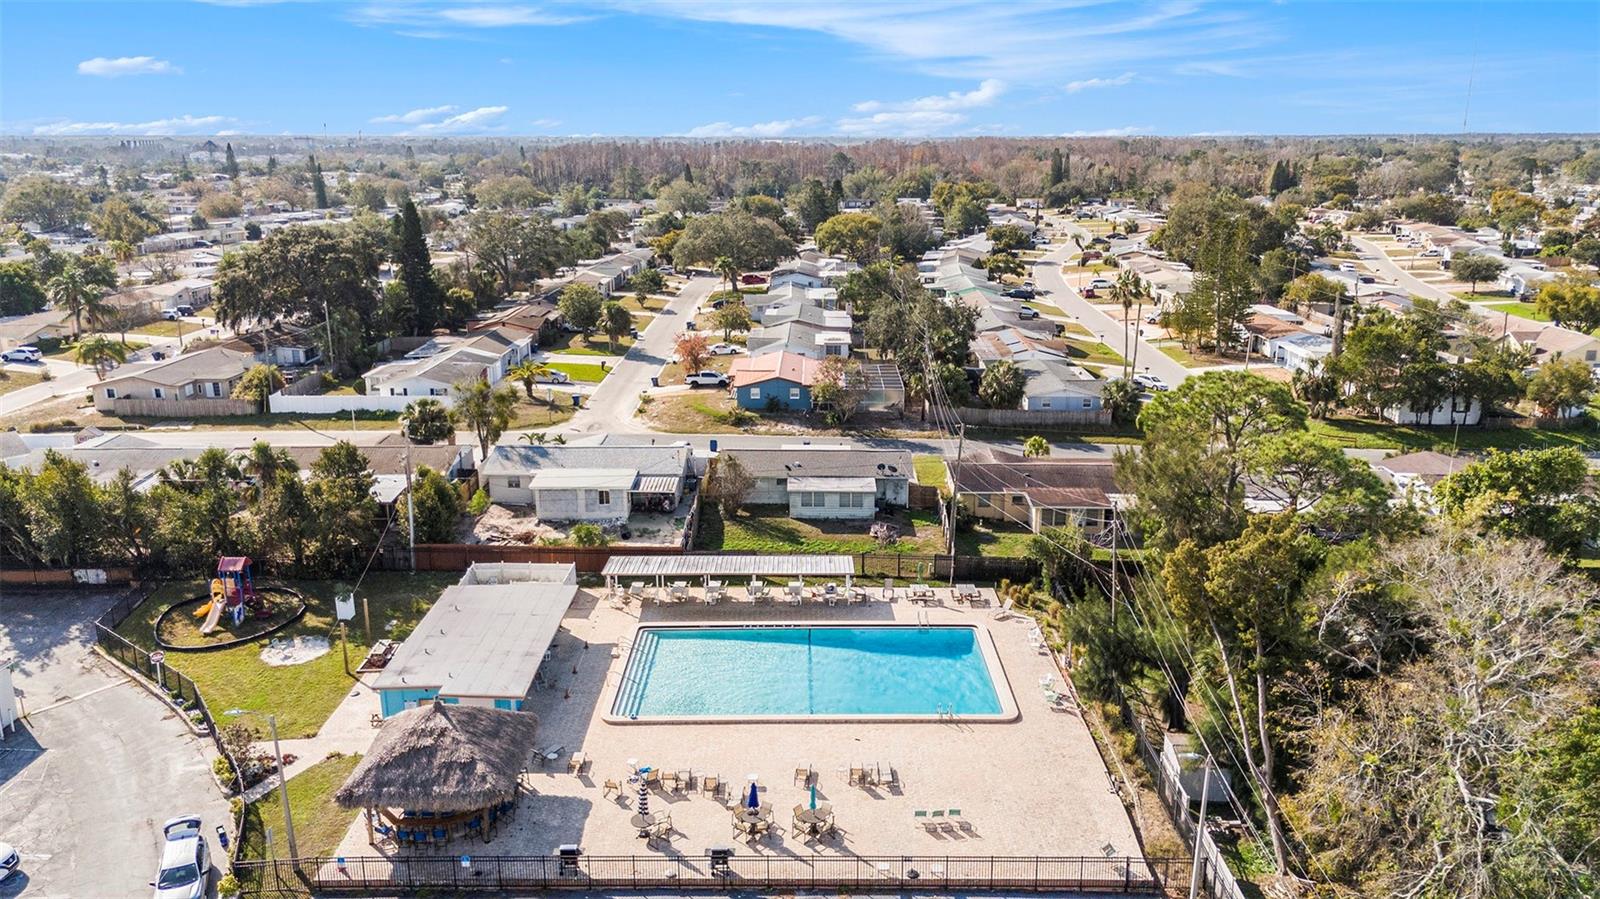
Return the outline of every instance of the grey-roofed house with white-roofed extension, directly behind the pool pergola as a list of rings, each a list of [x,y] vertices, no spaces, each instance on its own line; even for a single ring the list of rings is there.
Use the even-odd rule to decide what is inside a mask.
[[[750,505],[787,505],[790,518],[872,518],[904,507],[915,478],[910,453],[853,446],[723,450],[755,478]]]

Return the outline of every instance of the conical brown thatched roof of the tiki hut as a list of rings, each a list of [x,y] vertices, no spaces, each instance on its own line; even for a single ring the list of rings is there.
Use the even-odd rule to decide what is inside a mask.
[[[429,702],[384,721],[333,795],[344,808],[474,811],[517,793],[538,717]]]

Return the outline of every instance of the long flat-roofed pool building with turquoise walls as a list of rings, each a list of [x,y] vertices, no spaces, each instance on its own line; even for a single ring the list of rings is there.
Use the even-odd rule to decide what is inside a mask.
[[[382,717],[432,699],[522,710],[576,595],[573,565],[474,565],[378,675]]]

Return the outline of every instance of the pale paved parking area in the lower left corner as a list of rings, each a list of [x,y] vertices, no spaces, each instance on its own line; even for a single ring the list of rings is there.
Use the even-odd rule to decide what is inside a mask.
[[[0,593],[0,659],[16,661],[29,715],[0,742],[0,840],[22,854],[0,899],[147,896],[163,821],[200,813],[206,833],[227,824],[205,744],[91,653],[91,621],[110,603]]]

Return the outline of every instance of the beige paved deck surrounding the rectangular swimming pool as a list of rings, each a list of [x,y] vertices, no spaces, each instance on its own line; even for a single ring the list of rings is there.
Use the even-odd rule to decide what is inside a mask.
[[[533,766],[523,785],[531,792],[515,819],[496,838],[456,841],[450,853],[474,856],[550,856],[576,843],[587,856],[699,856],[710,846],[734,846],[739,856],[1139,856],[1128,816],[1112,789],[1088,728],[1075,712],[1054,710],[1040,691],[1042,678],[1059,672],[1048,654],[1029,643],[1032,621],[992,617],[987,605],[885,603],[827,606],[806,603],[630,605],[611,608],[600,590],[581,590],[542,672],[554,686],[536,689],[528,709],[539,715],[539,749],[560,747],[557,761]],[[640,622],[819,622],[819,624],[976,624],[994,637],[1010,689],[1019,707],[1011,721],[747,721],[747,723],[610,723],[605,720],[622,667],[626,640]],[[571,752],[589,763],[568,773]],[[638,838],[629,822],[637,787],[627,784],[629,760],[662,771],[688,769],[718,776],[723,797],[704,795],[696,784],[683,793],[653,792],[651,813],[672,816],[670,843]],[[880,765],[899,776],[896,787],[848,785],[850,768]],[[814,840],[789,832],[790,811],[808,801],[797,769],[816,773],[818,800],[832,803],[838,837]],[[774,832],[763,841],[736,840],[731,806],[749,777],[774,809]],[[621,795],[605,793],[606,781]],[[915,809],[960,809],[966,830],[926,833]],[[360,816],[339,846],[341,856],[392,854],[370,846]],[[405,854],[416,854],[406,851]],[[424,853],[437,856],[442,853]]]

